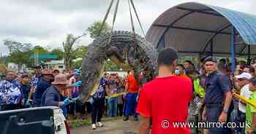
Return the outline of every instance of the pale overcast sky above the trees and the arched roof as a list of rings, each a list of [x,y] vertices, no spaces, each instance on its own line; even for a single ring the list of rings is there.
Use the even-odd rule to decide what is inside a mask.
[[[188,2],[188,0],[134,1],[145,31],[162,12],[177,4]],[[194,1],[256,15],[255,0]],[[109,3],[110,0],[1,0],[0,53],[6,55],[8,51],[4,47],[3,39],[13,39],[42,47],[61,47],[61,42],[68,33],[78,36],[85,33],[91,23],[102,20]],[[120,1],[114,29],[128,31],[131,29],[127,0]],[[138,25],[136,31],[141,33]],[[88,35],[77,45],[89,43],[91,39]]]

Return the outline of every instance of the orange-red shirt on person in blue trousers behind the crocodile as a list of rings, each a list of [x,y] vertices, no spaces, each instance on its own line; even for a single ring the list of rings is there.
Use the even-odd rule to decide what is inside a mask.
[[[132,74],[129,74],[129,76],[127,78],[127,82],[128,82],[128,92],[129,93],[138,93],[139,92],[140,85],[136,81],[135,76],[133,76]]]

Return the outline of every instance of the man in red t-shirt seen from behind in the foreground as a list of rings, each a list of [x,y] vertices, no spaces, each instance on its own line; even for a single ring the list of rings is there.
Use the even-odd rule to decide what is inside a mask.
[[[141,116],[138,133],[146,134],[152,121],[152,134],[186,134],[188,127],[175,127],[173,122],[187,122],[192,100],[192,82],[174,76],[178,55],[172,47],[159,52],[159,75],[140,90],[137,112]],[[151,121],[150,121],[151,120]]]

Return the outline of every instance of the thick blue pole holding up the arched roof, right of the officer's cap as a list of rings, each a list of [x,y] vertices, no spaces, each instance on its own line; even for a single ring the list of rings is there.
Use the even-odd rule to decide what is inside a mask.
[[[235,55],[235,28],[232,25],[231,26],[231,71],[232,74],[235,72],[235,66],[236,66],[236,55]]]

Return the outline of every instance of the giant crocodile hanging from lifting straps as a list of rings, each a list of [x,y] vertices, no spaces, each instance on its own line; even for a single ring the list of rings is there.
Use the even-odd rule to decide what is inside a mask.
[[[83,58],[81,101],[87,101],[99,87],[105,60],[112,60],[125,71],[133,69],[137,80],[143,71],[148,82],[157,75],[157,55],[153,45],[137,34],[128,31],[102,33],[89,44]]]

